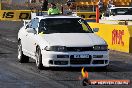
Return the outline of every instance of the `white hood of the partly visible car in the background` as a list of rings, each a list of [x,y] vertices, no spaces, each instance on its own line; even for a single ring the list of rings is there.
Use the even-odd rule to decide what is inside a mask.
[[[132,20],[132,15],[116,15],[108,17],[108,20]]]

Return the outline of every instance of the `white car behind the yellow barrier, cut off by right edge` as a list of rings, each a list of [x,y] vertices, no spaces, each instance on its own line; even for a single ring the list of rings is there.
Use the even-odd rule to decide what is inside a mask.
[[[102,20],[132,21],[132,7],[111,7]]]

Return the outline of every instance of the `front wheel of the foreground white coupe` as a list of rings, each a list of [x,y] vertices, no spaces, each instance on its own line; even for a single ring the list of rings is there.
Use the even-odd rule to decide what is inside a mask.
[[[43,69],[43,64],[42,64],[42,54],[40,47],[37,47],[36,49],[36,66],[38,69]]]

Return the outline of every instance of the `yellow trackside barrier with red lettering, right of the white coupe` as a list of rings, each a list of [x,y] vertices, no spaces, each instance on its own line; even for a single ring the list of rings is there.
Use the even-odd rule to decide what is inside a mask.
[[[91,28],[99,28],[97,35],[109,45],[109,49],[132,53],[132,26],[89,23]]]

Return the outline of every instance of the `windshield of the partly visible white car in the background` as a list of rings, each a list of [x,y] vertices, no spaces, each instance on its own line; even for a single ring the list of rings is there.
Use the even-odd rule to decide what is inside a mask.
[[[111,13],[113,13],[114,15],[132,15],[132,8],[112,9]]]

